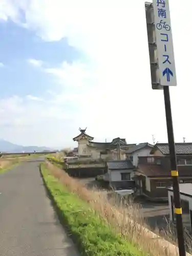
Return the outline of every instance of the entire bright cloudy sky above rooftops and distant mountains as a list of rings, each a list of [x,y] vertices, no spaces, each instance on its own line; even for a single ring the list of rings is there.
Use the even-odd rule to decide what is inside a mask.
[[[169,0],[177,87],[175,141],[192,142],[192,2]],[[167,142],[163,91],[152,90],[144,1],[1,0],[0,138],[73,147]]]

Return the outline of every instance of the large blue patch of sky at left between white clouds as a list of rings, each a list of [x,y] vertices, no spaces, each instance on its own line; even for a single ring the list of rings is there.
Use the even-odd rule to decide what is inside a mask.
[[[4,69],[0,69],[2,97],[15,94],[40,96],[52,88],[52,77],[31,67],[28,59],[40,59],[45,66],[56,67],[64,60],[72,63],[82,58],[80,51],[69,46],[67,38],[45,42],[33,31],[13,22],[1,23],[0,34],[3,38],[0,41],[0,56],[5,65]]]

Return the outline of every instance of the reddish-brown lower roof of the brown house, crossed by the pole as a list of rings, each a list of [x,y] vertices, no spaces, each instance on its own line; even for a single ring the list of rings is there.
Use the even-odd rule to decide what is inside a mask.
[[[180,177],[191,177],[192,178],[192,166],[191,165],[178,165],[178,172]],[[161,165],[155,164],[139,164],[137,171],[143,173],[148,177],[168,177],[170,175],[170,168],[162,167]]]

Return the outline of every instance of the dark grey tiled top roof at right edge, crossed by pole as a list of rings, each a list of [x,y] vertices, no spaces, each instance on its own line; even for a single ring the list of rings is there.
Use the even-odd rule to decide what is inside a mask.
[[[158,143],[157,148],[164,154],[169,154],[168,143]],[[176,154],[192,154],[192,143],[175,143]]]

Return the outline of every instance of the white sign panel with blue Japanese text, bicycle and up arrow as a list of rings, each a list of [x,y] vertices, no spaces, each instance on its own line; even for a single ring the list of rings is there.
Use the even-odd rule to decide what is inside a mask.
[[[161,86],[177,86],[168,0],[153,0]]]

